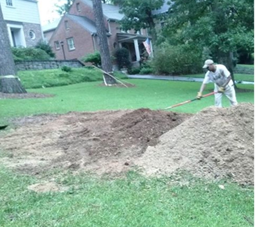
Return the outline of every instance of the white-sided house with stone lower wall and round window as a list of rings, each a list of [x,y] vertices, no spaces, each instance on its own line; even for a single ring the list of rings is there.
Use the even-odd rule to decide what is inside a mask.
[[[35,46],[43,39],[37,0],[0,0],[11,46]]]

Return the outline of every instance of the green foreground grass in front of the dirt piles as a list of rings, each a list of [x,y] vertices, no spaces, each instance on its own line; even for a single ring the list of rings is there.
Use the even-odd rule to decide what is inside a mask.
[[[220,227],[252,226],[253,188],[205,182],[183,176],[144,178],[128,172],[119,178],[71,173],[54,180],[69,189],[35,193],[27,186],[42,179],[0,168],[0,226]],[[249,221],[247,221],[247,219]]]

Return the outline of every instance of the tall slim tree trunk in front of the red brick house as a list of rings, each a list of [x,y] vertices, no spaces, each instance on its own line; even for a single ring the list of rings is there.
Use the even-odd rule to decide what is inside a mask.
[[[107,30],[104,24],[101,0],[93,0],[93,11],[94,11],[97,35],[99,37],[101,66],[106,73],[112,75],[113,66],[112,66],[109,48],[108,48],[108,40],[107,40],[107,34],[106,34]],[[109,76],[108,74],[103,74],[105,83],[107,84],[116,83],[116,80],[114,79],[114,77]]]

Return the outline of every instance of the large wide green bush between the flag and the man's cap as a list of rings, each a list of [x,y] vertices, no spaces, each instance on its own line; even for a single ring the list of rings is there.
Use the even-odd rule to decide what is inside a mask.
[[[164,43],[156,49],[152,66],[159,74],[186,75],[202,73],[202,63],[202,50]]]

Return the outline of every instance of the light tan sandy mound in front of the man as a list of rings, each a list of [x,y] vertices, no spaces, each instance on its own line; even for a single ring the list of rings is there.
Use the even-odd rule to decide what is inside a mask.
[[[186,169],[206,178],[254,180],[254,105],[210,107],[165,133],[134,163],[147,174]]]

